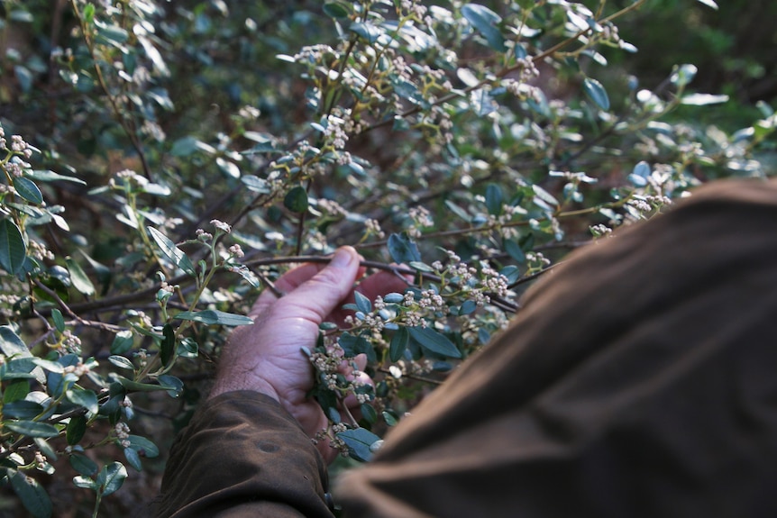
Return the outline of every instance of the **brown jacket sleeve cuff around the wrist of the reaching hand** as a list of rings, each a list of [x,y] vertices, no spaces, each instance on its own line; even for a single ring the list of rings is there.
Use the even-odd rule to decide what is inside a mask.
[[[159,517],[331,518],[325,462],[270,396],[242,391],[206,401],[178,435]]]

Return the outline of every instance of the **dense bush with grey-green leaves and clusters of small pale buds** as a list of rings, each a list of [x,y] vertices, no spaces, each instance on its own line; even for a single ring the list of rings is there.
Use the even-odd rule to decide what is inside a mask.
[[[640,42],[617,23],[648,3],[587,4],[4,0],[3,484],[36,517],[47,486],[91,491],[96,515],[187,422],[257,293],[343,244],[415,277],[303,351],[322,433],[367,460],[569,250],[765,176],[768,104],[696,123],[727,101],[691,90],[696,67],[625,72]],[[337,375],[360,353],[374,388]],[[350,393],[359,422],[335,411]]]

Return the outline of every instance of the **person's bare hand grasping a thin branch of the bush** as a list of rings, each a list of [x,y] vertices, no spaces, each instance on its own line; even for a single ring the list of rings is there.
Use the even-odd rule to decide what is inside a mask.
[[[320,323],[343,323],[340,307],[352,298],[362,275],[356,250],[343,247],[326,266],[307,263],[280,277],[275,287],[286,295],[262,292],[249,313],[253,325],[234,330],[221,355],[211,397],[233,390],[261,392],[278,400],[309,436],[324,429],[325,414],[307,397],[314,374],[302,347],[315,347]],[[404,287],[402,279],[379,272],[361,281],[358,290],[373,299]],[[319,450],[327,460],[336,455],[328,444],[319,443]]]

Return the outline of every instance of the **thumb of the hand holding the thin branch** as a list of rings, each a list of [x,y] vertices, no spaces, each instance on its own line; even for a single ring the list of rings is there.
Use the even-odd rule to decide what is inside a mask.
[[[278,309],[293,308],[298,316],[303,316],[299,314],[300,310],[306,310],[312,313],[306,315],[309,319],[321,323],[351,294],[358,273],[359,254],[356,250],[352,247],[339,248],[325,268],[281,298],[277,303]]]

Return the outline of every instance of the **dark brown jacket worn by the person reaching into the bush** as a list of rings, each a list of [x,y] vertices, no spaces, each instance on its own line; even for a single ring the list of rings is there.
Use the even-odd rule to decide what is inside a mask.
[[[719,182],[573,254],[345,477],[346,516],[777,513],[777,185]],[[208,402],[160,515],[329,516],[270,398]]]

